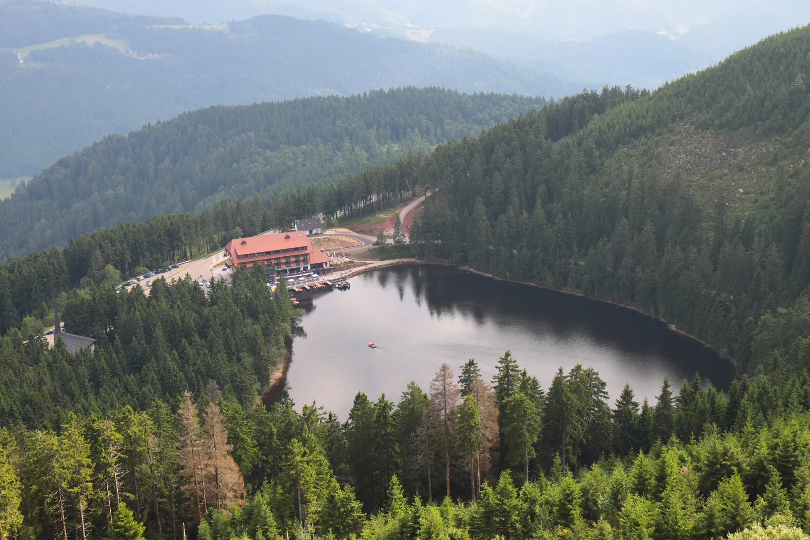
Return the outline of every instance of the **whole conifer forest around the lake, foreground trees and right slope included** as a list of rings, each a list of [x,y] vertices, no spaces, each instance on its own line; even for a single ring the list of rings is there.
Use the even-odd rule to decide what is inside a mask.
[[[73,238],[0,268],[0,538],[803,539],[810,534],[810,28],[656,92],[586,92],[339,182]],[[122,276],[301,212],[431,191],[412,248],[660,317],[736,362],[608,401],[505,352],[347,418],[270,374],[283,288]],[[48,349],[53,298],[93,351]],[[352,392],[351,389],[346,389]]]

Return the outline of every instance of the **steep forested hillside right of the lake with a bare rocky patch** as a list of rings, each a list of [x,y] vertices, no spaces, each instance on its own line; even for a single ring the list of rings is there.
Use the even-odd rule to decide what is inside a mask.
[[[798,362],[810,330],[808,72],[801,28],[558,142],[535,135],[546,115],[528,114],[443,145],[420,251],[639,306],[740,371],[776,347]]]

